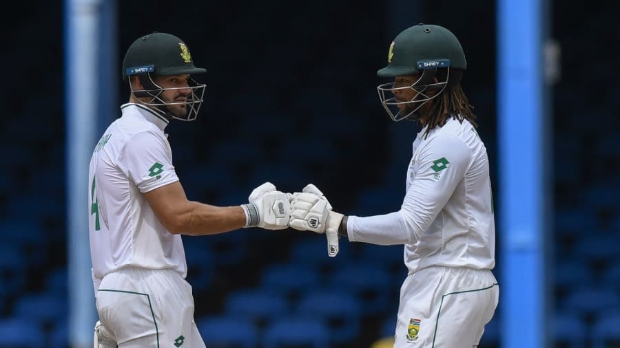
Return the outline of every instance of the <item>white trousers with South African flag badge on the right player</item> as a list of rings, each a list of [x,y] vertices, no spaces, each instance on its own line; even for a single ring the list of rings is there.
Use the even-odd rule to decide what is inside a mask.
[[[400,288],[394,348],[471,348],[499,301],[490,270],[433,266]]]

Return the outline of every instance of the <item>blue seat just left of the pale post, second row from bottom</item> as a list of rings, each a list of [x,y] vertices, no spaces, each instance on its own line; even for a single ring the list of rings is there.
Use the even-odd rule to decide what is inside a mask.
[[[67,297],[53,294],[26,294],[17,299],[13,306],[13,316],[34,323],[51,325],[63,319],[68,312]]]

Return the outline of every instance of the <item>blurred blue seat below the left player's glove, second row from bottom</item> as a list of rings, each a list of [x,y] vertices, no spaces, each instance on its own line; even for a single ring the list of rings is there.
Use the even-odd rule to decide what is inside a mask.
[[[238,290],[229,294],[225,301],[225,314],[250,318],[260,327],[264,327],[273,318],[289,314],[287,298],[278,292]]]

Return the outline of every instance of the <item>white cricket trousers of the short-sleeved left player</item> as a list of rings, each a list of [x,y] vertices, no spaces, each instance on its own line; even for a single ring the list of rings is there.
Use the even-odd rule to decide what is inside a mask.
[[[103,277],[99,320],[119,348],[204,348],[192,287],[174,270],[123,268]]]

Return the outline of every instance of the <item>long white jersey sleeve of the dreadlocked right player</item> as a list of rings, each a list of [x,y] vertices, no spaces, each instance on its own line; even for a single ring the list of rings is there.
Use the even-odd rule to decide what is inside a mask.
[[[471,151],[454,135],[440,134],[420,149],[417,171],[399,211],[373,217],[350,217],[349,240],[414,244],[444,208],[471,162]]]

